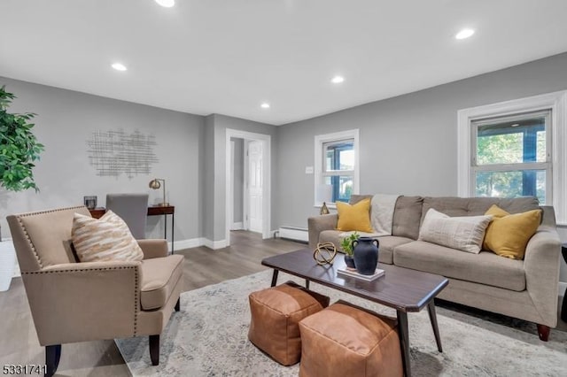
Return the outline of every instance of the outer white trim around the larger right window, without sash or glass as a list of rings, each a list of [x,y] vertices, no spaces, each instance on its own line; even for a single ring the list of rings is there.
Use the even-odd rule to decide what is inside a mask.
[[[474,196],[470,186],[470,161],[473,157],[471,154],[471,121],[544,109],[551,109],[552,204],[557,224],[567,225],[567,90],[459,110],[457,113],[459,196]]]

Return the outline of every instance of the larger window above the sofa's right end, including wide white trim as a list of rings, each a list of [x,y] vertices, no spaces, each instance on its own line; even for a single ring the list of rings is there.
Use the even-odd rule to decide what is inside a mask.
[[[537,196],[567,224],[567,91],[458,112],[458,195]]]

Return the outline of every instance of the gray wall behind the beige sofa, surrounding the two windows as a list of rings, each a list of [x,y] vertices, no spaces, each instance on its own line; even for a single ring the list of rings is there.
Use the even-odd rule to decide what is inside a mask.
[[[318,213],[315,178],[305,173],[315,135],[360,129],[362,194],[456,196],[458,110],[564,89],[567,53],[279,127],[277,171],[287,184],[277,222],[307,227]],[[567,242],[567,231],[560,235]]]

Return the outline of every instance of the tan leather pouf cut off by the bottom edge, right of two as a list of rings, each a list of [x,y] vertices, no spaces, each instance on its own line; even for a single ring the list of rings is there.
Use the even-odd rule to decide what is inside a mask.
[[[396,319],[345,302],[299,322],[301,377],[401,376]]]

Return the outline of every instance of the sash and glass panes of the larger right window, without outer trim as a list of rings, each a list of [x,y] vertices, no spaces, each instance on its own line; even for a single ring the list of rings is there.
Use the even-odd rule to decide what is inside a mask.
[[[472,120],[475,196],[538,196],[551,203],[551,111]]]

